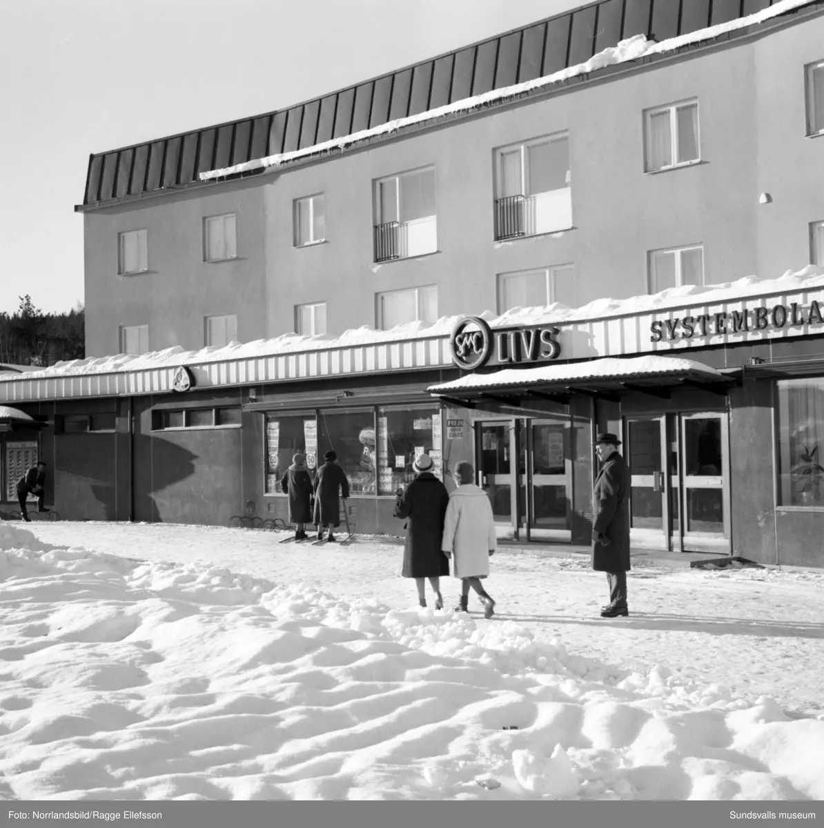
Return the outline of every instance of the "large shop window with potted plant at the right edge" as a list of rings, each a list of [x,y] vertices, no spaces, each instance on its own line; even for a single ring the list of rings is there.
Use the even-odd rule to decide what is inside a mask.
[[[824,378],[778,380],[778,503],[824,508]]]

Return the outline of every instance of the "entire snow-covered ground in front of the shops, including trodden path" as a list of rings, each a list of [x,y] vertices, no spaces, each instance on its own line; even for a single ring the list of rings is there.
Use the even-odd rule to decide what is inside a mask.
[[[282,537],[0,524],[0,798],[824,797],[824,574]]]

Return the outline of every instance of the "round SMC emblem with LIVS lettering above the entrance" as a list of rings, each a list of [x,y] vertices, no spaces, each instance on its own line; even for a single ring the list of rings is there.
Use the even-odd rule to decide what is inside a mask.
[[[452,329],[452,361],[458,368],[474,371],[487,363],[542,362],[557,359],[561,330],[554,325],[535,325],[515,330],[493,331],[480,316],[464,316]]]

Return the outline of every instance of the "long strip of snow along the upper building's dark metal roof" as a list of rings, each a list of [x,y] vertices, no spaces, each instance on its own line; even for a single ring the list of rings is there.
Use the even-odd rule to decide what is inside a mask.
[[[282,166],[288,161],[295,161],[301,157],[317,155],[320,152],[328,152],[334,149],[349,147],[352,144],[365,141],[368,138],[386,135],[391,132],[397,132],[398,129],[409,127],[416,123],[423,123],[434,120],[435,118],[443,118],[446,115],[465,112],[467,110],[482,107],[489,103],[500,102],[508,98],[513,98],[517,95],[530,92],[532,89],[541,89],[542,87],[551,86],[552,84],[557,84],[561,81],[574,78],[577,75],[586,75],[589,72],[603,69],[605,66],[629,63],[631,60],[640,60],[644,57],[660,55],[667,51],[680,49],[682,46],[689,46],[692,43],[709,41],[713,38],[720,37],[729,31],[742,29],[746,26],[754,26],[758,23],[769,20],[772,17],[778,17],[778,15],[791,12],[795,8],[807,6],[811,3],[812,0],[780,0],[780,2],[773,3],[773,5],[769,8],[762,9],[760,12],[755,12],[747,17],[740,17],[726,23],[719,23],[716,26],[707,26],[704,29],[692,31],[687,35],[671,37],[666,41],[661,41],[660,43],[657,43],[656,41],[648,41],[645,35],[635,35],[633,37],[629,37],[625,41],[620,41],[618,46],[610,46],[610,48],[600,51],[597,55],[593,55],[590,60],[585,61],[585,63],[569,66],[566,69],[552,73],[552,75],[545,75],[542,78],[527,80],[521,84],[504,86],[501,89],[493,89],[491,92],[484,92],[484,94],[461,99],[460,101],[455,101],[454,103],[447,103],[445,106],[441,106],[436,109],[429,109],[426,110],[426,112],[418,113],[417,115],[410,115],[407,118],[398,118],[394,121],[379,124],[377,127],[332,138],[330,141],[324,141],[320,144],[315,144],[312,147],[304,147],[303,149],[294,150],[292,152],[280,152],[277,153],[277,155],[256,158],[253,161],[244,161],[242,164],[227,166],[219,170],[201,172],[200,180],[209,181],[210,179],[232,176],[248,170],[258,170],[261,167]]]

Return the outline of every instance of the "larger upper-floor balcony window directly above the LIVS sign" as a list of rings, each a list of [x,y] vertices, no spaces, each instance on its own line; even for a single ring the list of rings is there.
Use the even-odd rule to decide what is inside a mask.
[[[571,226],[569,135],[536,138],[495,152],[495,238]]]

